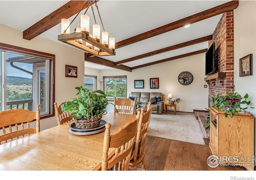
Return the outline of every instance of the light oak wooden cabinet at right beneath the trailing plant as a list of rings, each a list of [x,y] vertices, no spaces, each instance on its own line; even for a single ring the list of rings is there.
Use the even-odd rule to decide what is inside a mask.
[[[209,146],[220,163],[254,170],[254,117],[239,113],[226,118],[224,112],[211,107]]]

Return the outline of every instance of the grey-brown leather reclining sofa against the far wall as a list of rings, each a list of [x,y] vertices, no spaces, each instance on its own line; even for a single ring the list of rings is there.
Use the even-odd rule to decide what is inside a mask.
[[[165,95],[161,92],[130,92],[129,97],[136,97],[137,101],[141,101],[142,108],[148,108],[148,102],[150,102],[152,98],[160,97],[160,101],[155,102],[155,104],[151,104],[151,106],[153,106],[152,114],[162,114],[164,112]],[[137,108],[136,112],[138,110],[140,110],[140,108]]]

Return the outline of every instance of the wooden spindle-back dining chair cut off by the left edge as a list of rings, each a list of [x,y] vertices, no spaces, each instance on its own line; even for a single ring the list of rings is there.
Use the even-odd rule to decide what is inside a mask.
[[[0,128],[2,128],[2,135],[0,135],[1,142],[18,139],[24,135],[33,134],[40,131],[40,105],[36,107],[36,111],[24,109],[11,109],[0,112]],[[36,120],[36,128],[30,128],[30,122]],[[27,124],[27,128],[24,128]],[[20,128],[20,130],[19,130]],[[6,133],[7,131],[7,133]]]

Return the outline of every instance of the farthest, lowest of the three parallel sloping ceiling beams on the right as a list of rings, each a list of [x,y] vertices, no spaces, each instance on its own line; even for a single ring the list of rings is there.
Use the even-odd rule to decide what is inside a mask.
[[[187,54],[182,54],[182,55],[179,55],[179,56],[174,56],[174,57],[171,57],[171,58],[166,58],[166,59],[158,60],[158,61],[155,61],[155,62],[150,62],[150,63],[147,63],[147,64],[142,64],[140,66],[134,66],[131,69],[134,70],[134,69],[143,68],[143,67],[146,67],[146,66],[151,66],[151,65],[154,65],[154,64],[159,64],[159,63],[162,63],[162,62],[167,62],[167,61],[171,61],[171,60],[175,60],[175,59],[185,58],[185,57],[188,57],[188,56],[193,56],[193,55],[196,55],[196,54],[204,53],[207,50],[208,49],[202,49],[202,50],[199,50],[199,51],[194,51],[194,52],[190,52],[190,53],[187,53]]]

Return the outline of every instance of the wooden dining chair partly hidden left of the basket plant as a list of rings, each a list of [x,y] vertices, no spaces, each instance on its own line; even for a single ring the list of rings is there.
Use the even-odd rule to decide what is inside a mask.
[[[54,102],[54,109],[55,109],[55,116],[57,118],[58,125],[68,123],[72,120],[72,116],[69,116],[69,112],[65,111],[62,112],[61,105],[65,102],[60,103],[60,105],[57,106],[57,102]]]

